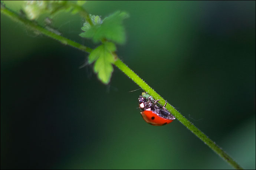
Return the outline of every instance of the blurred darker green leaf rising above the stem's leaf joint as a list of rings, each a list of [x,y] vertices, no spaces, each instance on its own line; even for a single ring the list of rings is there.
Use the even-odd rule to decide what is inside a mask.
[[[95,43],[107,39],[115,43],[123,44],[125,42],[125,30],[122,21],[128,17],[128,14],[121,11],[116,11],[114,14],[100,20],[99,16],[91,17],[93,26],[88,26],[85,22],[80,36],[84,38],[92,38]]]

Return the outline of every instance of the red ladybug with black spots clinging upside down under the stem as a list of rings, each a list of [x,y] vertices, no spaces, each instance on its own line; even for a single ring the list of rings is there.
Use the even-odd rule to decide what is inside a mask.
[[[142,118],[154,126],[163,126],[173,122],[175,117],[165,109],[166,102],[164,106],[161,106],[157,103],[158,101],[160,100],[154,100],[148,93],[142,93],[138,99]]]

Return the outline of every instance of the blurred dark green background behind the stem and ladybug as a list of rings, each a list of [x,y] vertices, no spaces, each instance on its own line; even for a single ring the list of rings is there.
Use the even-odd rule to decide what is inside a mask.
[[[83,7],[102,17],[127,11],[119,57],[237,163],[255,169],[255,1]],[[78,14],[53,18],[63,36],[96,47],[78,36],[82,24]],[[92,66],[79,69],[87,56],[1,14],[1,169],[232,168],[178,120],[145,123],[142,90],[129,92],[139,87],[116,67],[102,84]]]

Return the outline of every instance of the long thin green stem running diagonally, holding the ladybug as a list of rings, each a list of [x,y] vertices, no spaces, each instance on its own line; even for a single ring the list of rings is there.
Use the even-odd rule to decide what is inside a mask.
[[[78,48],[79,50],[85,52],[91,52],[92,49],[85,47],[79,43],[75,43],[72,40],[69,40],[65,37],[52,33],[45,28],[39,26],[38,24],[27,20],[26,18],[20,17],[18,14],[10,11],[6,7],[1,7],[1,13],[5,14],[6,16],[10,17],[14,21],[19,21],[20,23],[25,24],[27,27],[31,28],[32,30],[39,31],[42,34],[45,34],[48,37],[54,38],[55,40],[60,41],[63,44],[70,45],[72,47]],[[125,65],[118,57],[114,62],[116,67],[118,67],[124,74],[126,74],[129,78],[132,79],[136,84],[138,84],[145,92],[149,93],[154,99],[160,99],[159,103],[164,105],[165,100],[158,95],[149,85],[147,85],[137,74],[135,74],[127,65]],[[203,132],[201,132],[196,126],[193,125],[190,121],[188,121],[184,116],[182,116],[173,106],[169,103],[165,106],[167,110],[169,110],[175,118],[177,118],[184,126],[186,126],[192,133],[194,133],[197,137],[199,137],[206,145],[208,145],[214,152],[219,154],[224,160],[226,160],[230,165],[232,165],[235,169],[242,169],[239,164],[237,164],[224,150],[222,150],[219,146],[217,146],[209,137],[207,137]]]

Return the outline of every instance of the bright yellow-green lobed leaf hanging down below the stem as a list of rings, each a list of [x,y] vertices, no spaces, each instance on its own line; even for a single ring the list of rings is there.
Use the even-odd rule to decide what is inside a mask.
[[[94,72],[98,74],[98,78],[108,84],[113,72],[114,56],[112,52],[116,50],[115,44],[105,42],[95,48],[89,55],[89,64],[95,61]]]

